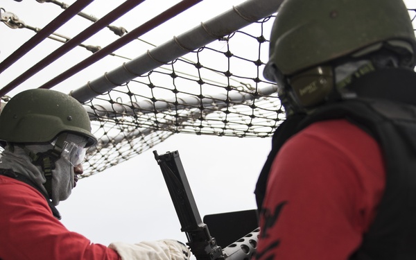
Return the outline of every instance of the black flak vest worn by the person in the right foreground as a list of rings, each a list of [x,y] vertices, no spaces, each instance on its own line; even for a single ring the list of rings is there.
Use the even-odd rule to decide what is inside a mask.
[[[383,151],[386,171],[385,191],[376,217],[350,259],[415,260],[416,74],[404,69],[377,71],[357,80],[354,87],[358,96],[365,98],[325,105],[311,116],[298,115],[279,126],[257,182],[259,211],[268,171],[284,142],[312,123],[347,119],[376,139]]]

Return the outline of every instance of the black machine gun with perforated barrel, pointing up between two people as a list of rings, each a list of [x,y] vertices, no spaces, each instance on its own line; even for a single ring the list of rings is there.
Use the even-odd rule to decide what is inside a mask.
[[[181,231],[187,235],[187,245],[197,260],[248,260],[255,254],[259,228],[238,239],[236,242],[221,248],[209,229],[202,223],[191,187],[185,175],[180,156],[177,151],[157,155],[166,186],[168,187]]]

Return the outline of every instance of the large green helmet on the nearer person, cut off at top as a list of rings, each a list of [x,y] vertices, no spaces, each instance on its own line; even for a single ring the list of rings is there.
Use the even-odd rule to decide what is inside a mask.
[[[272,27],[264,77],[275,81],[276,68],[293,75],[379,42],[416,53],[402,0],[286,0]],[[414,55],[408,62],[414,66]]]

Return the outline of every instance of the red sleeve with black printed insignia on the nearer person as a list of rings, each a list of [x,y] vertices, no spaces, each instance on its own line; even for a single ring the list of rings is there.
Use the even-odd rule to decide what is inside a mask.
[[[270,169],[258,258],[349,259],[384,187],[381,150],[370,135],[343,119],[310,125]]]

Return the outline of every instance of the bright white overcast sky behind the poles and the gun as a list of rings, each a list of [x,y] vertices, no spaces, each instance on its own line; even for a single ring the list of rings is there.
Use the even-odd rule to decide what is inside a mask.
[[[71,1],[64,1],[73,3]],[[123,26],[132,31],[136,26],[143,24],[151,17],[157,15],[168,6],[177,3],[171,0],[148,0],[136,8],[135,15],[115,21],[114,25]],[[154,32],[144,35],[144,39],[153,44],[162,44],[170,40],[173,35],[180,35],[189,29],[198,26],[200,21],[207,21],[212,17],[229,10],[243,0],[206,0],[198,3],[187,12],[184,12],[168,24],[161,26]],[[122,1],[96,0],[83,12],[103,17],[109,10],[119,6]],[[110,6],[111,5],[111,6]],[[51,3],[37,3],[35,0],[23,0],[17,3],[12,0],[2,0],[0,7],[13,12],[20,19],[31,26],[42,28],[51,17],[62,11]],[[49,15],[51,14],[51,15]],[[80,18],[77,18],[80,19]],[[85,23],[84,23],[85,24]],[[89,25],[89,24],[87,24]],[[68,24],[62,31],[66,36],[75,36],[75,25]],[[0,24],[0,61],[8,57],[32,37],[33,33],[26,29],[11,30]],[[117,37],[96,36],[87,40],[87,44],[105,46]],[[31,51],[25,60],[21,60],[10,69],[0,74],[0,86],[3,87],[22,71],[30,68],[40,61],[51,50],[58,48],[60,43],[48,40]],[[150,46],[146,46],[151,49]],[[135,58],[144,51],[123,52],[115,51],[129,58]],[[27,80],[9,93],[10,96],[24,89],[37,87],[52,76],[62,72],[62,67],[71,67],[75,64],[71,57],[78,57],[79,62],[89,52],[84,49],[75,49],[62,58],[62,61],[53,63],[53,66]],[[79,58],[83,57],[83,58]],[[114,58],[103,59],[89,69],[69,78],[55,90],[69,92],[84,85],[88,80],[94,80],[119,67],[125,60]],[[60,68],[60,70],[56,70]],[[180,232],[180,223],[177,220],[175,209],[168,195],[162,173],[157,165],[153,153],[179,150],[193,196],[203,217],[206,214],[216,214],[226,211],[239,211],[254,209],[254,185],[257,176],[265,162],[270,150],[270,138],[233,138],[233,137],[207,137],[196,135],[173,135],[154,149],[138,155],[114,166],[107,171],[80,180],[73,189],[71,197],[61,202],[58,210],[62,214],[62,223],[68,229],[83,234],[93,243],[107,245],[112,241],[125,241],[135,243],[143,240],[177,239],[186,242],[186,236]],[[238,239],[238,238],[236,238]]]

